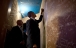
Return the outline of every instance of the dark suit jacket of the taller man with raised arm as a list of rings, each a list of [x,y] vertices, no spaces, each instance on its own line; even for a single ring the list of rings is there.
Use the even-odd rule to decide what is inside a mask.
[[[39,20],[29,19],[26,22],[26,32],[27,32],[27,45],[29,44],[38,44],[40,43],[40,29],[39,29],[39,22],[42,20],[42,15],[40,16]]]

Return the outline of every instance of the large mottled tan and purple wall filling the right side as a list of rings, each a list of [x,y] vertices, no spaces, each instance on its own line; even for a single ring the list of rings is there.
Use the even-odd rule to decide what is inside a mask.
[[[76,48],[76,0],[45,2],[46,48]]]

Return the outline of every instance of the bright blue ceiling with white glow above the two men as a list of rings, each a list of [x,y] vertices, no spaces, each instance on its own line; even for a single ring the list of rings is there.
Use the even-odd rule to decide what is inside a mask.
[[[39,13],[42,0],[18,0],[18,6],[22,14],[22,18],[27,16],[29,11],[35,14]]]

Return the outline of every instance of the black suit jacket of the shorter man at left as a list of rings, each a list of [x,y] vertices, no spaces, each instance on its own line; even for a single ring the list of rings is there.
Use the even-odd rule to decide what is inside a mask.
[[[19,47],[20,42],[26,40],[26,34],[23,33],[22,35],[22,31],[18,26],[15,26],[12,28],[11,30],[11,47]]]

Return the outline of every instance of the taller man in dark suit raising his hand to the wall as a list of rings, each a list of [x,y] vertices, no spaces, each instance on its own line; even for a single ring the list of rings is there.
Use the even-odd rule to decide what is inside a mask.
[[[36,15],[34,12],[28,12],[28,17],[30,19],[26,22],[27,48],[33,48],[33,45],[36,45],[37,48],[40,48],[40,29],[38,24],[43,18],[43,12],[44,9],[41,10],[39,20],[35,19]]]

